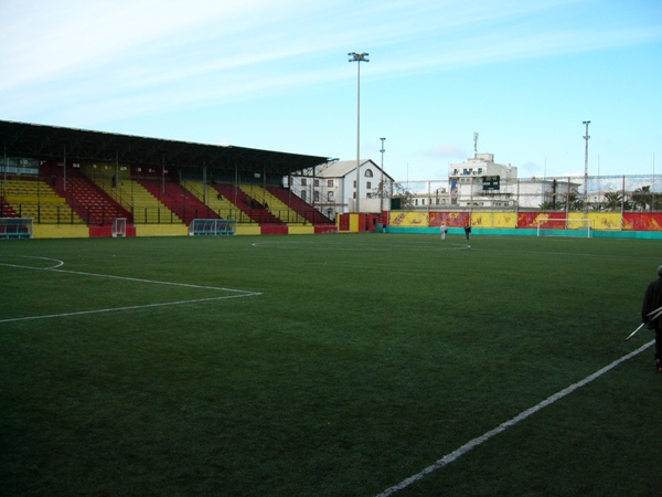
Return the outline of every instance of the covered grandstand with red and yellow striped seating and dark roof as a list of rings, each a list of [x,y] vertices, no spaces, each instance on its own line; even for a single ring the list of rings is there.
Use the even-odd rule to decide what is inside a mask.
[[[193,219],[217,218],[287,233],[288,225],[312,224],[316,216],[312,205],[280,186],[282,178],[327,161],[11,121],[0,121],[0,136],[7,144],[0,216],[29,216],[36,225],[110,226],[119,218],[134,226],[185,228]],[[334,228],[330,219],[317,223],[324,225],[320,231]]]

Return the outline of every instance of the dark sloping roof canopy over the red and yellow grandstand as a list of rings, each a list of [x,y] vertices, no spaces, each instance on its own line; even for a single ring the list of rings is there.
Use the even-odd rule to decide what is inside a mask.
[[[173,141],[0,120],[0,140],[8,157],[41,160],[98,161],[169,168],[210,168],[288,176],[328,162],[303,156],[244,147]]]

